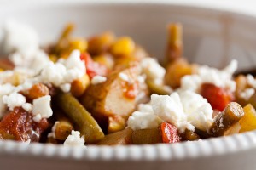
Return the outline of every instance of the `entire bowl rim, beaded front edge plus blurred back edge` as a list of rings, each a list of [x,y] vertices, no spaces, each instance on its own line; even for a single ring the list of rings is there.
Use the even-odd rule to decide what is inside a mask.
[[[12,8],[14,1],[4,3],[1,8]],[[33,5],[58,5],[63,3],[61,0],[51,1],[16,1],[15,6],[24,6],[27,3]],[[62,5],[69,4],[88,4],[88,5],[172,5],[181,8],[193,8],[201,10],[210,10],[213,12],[238,14],[241,16],[253,17],[256,19],[256,11],[235,8],[236,5],[224,5],[222,1],[177,1],[177,0],[159,0],[159,1],[136,1],[136,0],[67,0]],[[25,6],[24,6],[25,7]],[[239,146],[239,147],[238,147]],[[98,146],[88,145],[86,148],[67,147],[54,144],[26,144],[16,141],[0,140],[0,157],[11,156],[40,156],[54,159],[71,159],[87,161],[175,161],[185,159],[197,159],[206,156],[225,156],[241,151],[252,150],[256,148],[256,131],[239,133],[226,137],[203,139],[198,141],[188,141],[176,144],[143,144],[143,145],[118,145],[118,146]]]

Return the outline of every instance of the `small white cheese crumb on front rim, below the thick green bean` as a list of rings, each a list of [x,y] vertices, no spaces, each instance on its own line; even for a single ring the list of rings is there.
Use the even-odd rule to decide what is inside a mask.
[[[65,146],[84,146],[84,137],[80,137],[79,131],[72,131],[70,135],[68,135],[67,139],[64,142]]]

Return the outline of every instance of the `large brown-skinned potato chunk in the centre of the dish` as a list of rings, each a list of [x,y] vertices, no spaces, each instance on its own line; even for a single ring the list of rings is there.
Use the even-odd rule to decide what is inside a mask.
[[[128,78],[128,82],[120,77],[120,73]],[[134,111],[137,105],[139,73],[137,64],[119,68],[108,76],[106,82],[90,84],[80,98],[82,105],[91,112],[105,131],[108,130],[108,117],[121,116],[126,120]]]

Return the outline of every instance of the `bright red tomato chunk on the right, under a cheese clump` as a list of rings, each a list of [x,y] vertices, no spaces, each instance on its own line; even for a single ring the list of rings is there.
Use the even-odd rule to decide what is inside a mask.
[[[212,83],[203,83],[201,85],[201,95],[212,105],[213,110],[223,111],[234,96],[228,90],[219,88]]]

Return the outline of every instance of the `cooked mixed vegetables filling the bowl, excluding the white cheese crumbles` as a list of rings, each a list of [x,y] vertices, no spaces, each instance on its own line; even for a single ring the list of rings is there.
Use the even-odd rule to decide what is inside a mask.
[[[201,85],[199,94],[214,110],[208,131],[195,128],[195,131],[179,132],[171,122],[160,122],[154,128],[127,127],[129,116],[139,104],[148,103],[151,94],[172,94],[180,88],[182,77],[196,73],[198,65],[190,64],[183,57],[182,26],[168,26],[166,61],[163,64],[166,73],[162,82],[154,81],[154,77],[138,80],[142,75],[140,63],[150,56],[131,37],[116,37],[113,32],[104,32],[87,39],[74,38],[71,36],[73,28],[73,24],[67,25],[59,40],[45,48],[45,52],[56,62],[67,59],[73,50],[79,50],[86,73],[71,83],[68,93],[44,82],[20,91],[27,101],[50,95],[53,116],[34,122],[29,111],[15,107],[0,118],[0,139],[63,144],[74,130],[80,132],[85,144],[157,144],[207,139],[256,128],[256,94],[248,99],[241,96],[246,88],[254,88],[247,82],[246,75],[234,77],[235,93],[210,82]],[[9,71],[14,65],[9,59],[2,59],[0,68]],[[97,76],[107,78],[92,83]],[[17,86],[20,80],[22,75],[17,73],[5,83]]]

